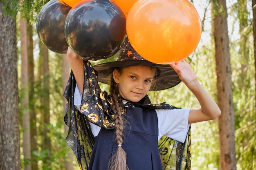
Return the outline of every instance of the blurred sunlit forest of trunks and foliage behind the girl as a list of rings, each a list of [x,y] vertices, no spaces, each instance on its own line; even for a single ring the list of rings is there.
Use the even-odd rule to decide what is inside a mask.
[[[47,0],[0,0],[0,170],[79,169],[65,141],[63,92],[70,74],[67,56],[49,51],[36,32],[37,15],[46,3]],[[186,61],[222,110],[219,120],[192,125],[191,170],[256,170],[256,33],[253,32],[256,2],[191,0],[191,3],[200,14],[203,32],[198,48]],[[225,13],[228,45],[219,45],[228,51],[220,57],[216,51],[220,50],[216,16]],[[221,72],[226,68],[222,63],[230,66],[227,71],[230,86],[225,86],[229,75]],[[218,81],[220,76],[223,79]],[[108,86],[101,86],[108,90]],[[222,93],[219,89],[223,86],[227,88]],[[231,94],[225,94],[227,91]],[[182,83],[149,95],[152,103],[166,101],[181,108],[200,106]],[[228,102],[231,108],[222,102],[221,99],[228,98],[225,96],[231,97]],[[223,118],[225,115],[231,118]],[[226,139],[220,137],[224,125],[230,130]],[[225,163],[233,168],[223,168]]]

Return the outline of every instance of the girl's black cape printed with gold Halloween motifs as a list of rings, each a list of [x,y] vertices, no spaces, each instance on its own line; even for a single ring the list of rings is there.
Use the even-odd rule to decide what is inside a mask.
[[[89,122],[101,128],[115,129],[115,118],[112,110],[112,98],[106,91],[101,91],[97,80],[97,71],[94,70],[88,60],[84,60],[84,86],[80,111],[74,106],[74,91],[76,81],[71,71],[67,83],[64,97],[67,99],[64,121],[69,126],[66,137],[67,144],[72,148],[79,163],[80,170],[87,170],[92,148],[94,146],[94,136]],[[121,111],[125,114],[126,109],[118,97]],[[145,109],[173,109],[165,103],[151,104],[146,95],[136,107]],[[186,137],[186,141],[181,143],[168,137],[162,137],[158,141],[159,155],[162,160],[163,170],[190,170],[191,164],[191,128]]]

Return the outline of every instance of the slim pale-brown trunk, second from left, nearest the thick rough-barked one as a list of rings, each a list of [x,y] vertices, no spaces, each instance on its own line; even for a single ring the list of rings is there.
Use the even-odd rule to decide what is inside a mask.
[[[29,122],[29,95],[28,95],[28,65],[27,65],[27,22],[20,17],[20,55],[21,55],[21,87],[25,92],[22,97],[22,129],[23,129],[23,152],[24,170],[31,170],[31,146],[30,146],[30,122]]]

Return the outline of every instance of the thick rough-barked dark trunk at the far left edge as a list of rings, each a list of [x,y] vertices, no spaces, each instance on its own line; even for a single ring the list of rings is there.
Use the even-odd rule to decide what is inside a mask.
[[[0,170],[20,170],[16,18],[0,3]]]

